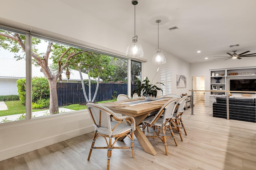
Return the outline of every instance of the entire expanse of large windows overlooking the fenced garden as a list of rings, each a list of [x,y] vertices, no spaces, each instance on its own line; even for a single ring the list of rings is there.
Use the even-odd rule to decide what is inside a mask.
[[[0,30],[1,123],[86,109],[87,102],[128,94],[141,77],[140,62],[27,35]]]

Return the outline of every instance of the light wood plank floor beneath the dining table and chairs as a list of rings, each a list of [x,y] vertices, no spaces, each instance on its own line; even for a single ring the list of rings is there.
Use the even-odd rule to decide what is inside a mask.
[[[183,114],[187,136],[183,142],[175,133],[178,147],[168,139],[168,156],[160,139],[149,139],[157,154],[142,150],[134,140],[135,158],[131,150],[114,149],[110,159],[112,170],[255,170],[256,123],[212,117],[207,108],[194,107]],[[182,130],[183,131],[183,130]],[[88,133],[42,149],[34,150],[0,162],[0,170],[104,170],[106,149],[90,150],[93,133]],[[102,139],[97,143],[103,144]],[[118,145],[130,145],[129,139]]]

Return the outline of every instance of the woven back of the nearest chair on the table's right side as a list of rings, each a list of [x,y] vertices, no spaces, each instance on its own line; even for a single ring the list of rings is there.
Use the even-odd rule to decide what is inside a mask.
[[[163,123],[166,122],[166,119],[170,119],[173,117],[173,113],[176,107],[177,98],[172,98],[166,102],[161,109],[156,113],[154,119],[150,122],[150,124],[154,124],[154,122],[157,121],[157,119],[164,113]]]

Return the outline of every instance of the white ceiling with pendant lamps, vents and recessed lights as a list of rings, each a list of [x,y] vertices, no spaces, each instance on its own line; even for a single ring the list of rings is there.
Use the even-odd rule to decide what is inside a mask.
[[[131,0],[60,0],[134,36]],[[256,0],[138,0],[136,35],[189,63],[245,51],[256,53]],[[179,29],[170,31],[168,28]],[[102,28],[104,29],[104,28]],[[239,44],[239,47],[230,45]],[[201,53],[197,53],[200,50]],[[208,60],[204,58],[208,57]],[[220,59],[223,60],[223,59]],[[237,60],[239,61],[239,60]]]

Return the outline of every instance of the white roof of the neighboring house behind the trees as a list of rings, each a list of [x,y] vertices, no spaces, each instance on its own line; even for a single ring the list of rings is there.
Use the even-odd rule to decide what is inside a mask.
[[[40,71],[40,66],[32,64],[32,77],[45,77]],[[62,80],[68,80],[66,72],[63,71]],[[88,74],[82,72],[83,79],[88,79]],[[26,61],[16,59],[0,58],[0,78],[25,78],[26,77]],[[79,71],[70,69],[69,80],[81,80]],[[91,77],[91,80],[97,80]],[[100,79],[100,81],[102,81]]]

